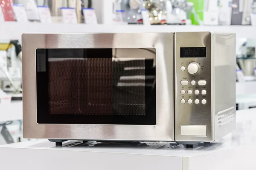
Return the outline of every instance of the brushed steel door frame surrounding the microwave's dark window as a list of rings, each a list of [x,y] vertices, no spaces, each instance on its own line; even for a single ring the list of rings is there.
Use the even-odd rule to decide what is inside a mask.
[[[174,141],[172,32],[23,34],[22,46],[24,138]],[[37,48],[155,48],[156,125],[37,124]]]

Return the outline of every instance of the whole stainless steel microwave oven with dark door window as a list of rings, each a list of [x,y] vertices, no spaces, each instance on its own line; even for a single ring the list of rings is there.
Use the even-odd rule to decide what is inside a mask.
[[[23,136],[211,142],[236,127],[236,34],[23,34]]]

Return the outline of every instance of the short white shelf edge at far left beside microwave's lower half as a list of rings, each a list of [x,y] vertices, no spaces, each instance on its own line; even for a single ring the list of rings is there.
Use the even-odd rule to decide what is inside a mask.
[[[0,122],[22,120],[22,101],[0,104]]]

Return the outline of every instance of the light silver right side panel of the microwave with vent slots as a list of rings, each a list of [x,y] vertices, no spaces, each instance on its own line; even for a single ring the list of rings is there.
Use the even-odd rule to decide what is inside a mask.
[[[215,140],[236,129],[236,34],[215,32]]]

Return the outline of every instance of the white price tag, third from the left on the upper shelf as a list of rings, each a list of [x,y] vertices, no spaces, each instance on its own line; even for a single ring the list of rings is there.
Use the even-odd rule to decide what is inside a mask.
[[[77,23],[76,11],[74,8],[61,8],[64,23]]]

